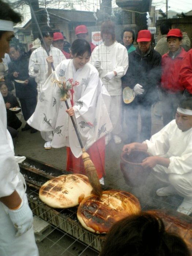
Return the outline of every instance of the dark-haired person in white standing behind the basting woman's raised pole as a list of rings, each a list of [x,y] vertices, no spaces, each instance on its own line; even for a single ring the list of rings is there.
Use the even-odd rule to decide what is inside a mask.
[[[53,57],[54,67],[56,68],[62,60],[65,60],[64,54],[56,47],[52,46],[53,42],[53,31],[48,26],[42,26],[41,33],[43,35],[43,39],[48,50],[50,56]],[[39,38],[41,40],[41,46],[34,50],[31,53],[29,60],[29,75],[35,78],[37,82],[37,91],[38,91],[38,100],[44,100],[44,93],[42,92],[42,87],[44,82],[48,78],[48,64],[46,58],[48,57],[48,53],[45,50],[45,46],[41,39],[41,35],[39,34]],[[44,148],[51,149],[51,142],[53,138],[52,132],[41,132],[42,138],[45,140]]]

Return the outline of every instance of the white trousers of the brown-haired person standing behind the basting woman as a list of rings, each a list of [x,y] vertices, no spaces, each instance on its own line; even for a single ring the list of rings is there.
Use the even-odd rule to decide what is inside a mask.
[[[112,134],[119,134],[122,131],[121,128],[121,105],[122,96],[111,96],[110,102],[110,119],[113,125]]]

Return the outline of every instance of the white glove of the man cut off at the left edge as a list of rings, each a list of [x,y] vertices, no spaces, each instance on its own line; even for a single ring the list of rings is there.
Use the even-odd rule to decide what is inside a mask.
[[[8,214],[13,225],[18,230],[16,233],[16,237],[26,233],[31,228],[33,224],[33,213],[28,203],[23,203],[22,200],[19,209],[9,209]]]

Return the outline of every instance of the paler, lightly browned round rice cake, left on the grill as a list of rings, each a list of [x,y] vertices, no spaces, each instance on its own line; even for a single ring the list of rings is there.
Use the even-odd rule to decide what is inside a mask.
[[[83,174],[61,175],[42,185],[39,198],[50,207],[68,208],[78,205],[92,190]]]

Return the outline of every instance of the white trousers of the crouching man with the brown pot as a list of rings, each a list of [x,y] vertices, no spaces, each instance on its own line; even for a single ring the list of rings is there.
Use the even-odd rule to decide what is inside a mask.
[[[178,195],[185,199],[192,199],[192,172],[185,174],[167,174],[167,168],[162,165],[156,165],[153,170],[155,176],[169,185],[172,185],[178,192]]]

